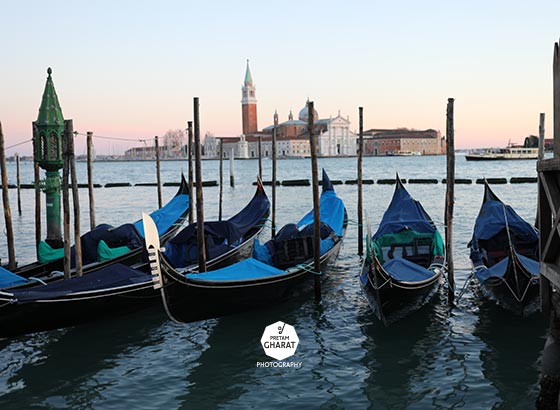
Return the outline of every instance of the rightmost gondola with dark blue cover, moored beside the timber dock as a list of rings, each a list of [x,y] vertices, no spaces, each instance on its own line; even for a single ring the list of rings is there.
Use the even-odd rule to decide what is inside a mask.
[[[482,295],[521,316],[538,311],[539,233],[486,181],[468,247]]]

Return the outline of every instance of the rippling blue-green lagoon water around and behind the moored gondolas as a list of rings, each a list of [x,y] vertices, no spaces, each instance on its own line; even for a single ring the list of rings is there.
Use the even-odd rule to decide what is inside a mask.
[[[456,177],[531,177],[535,162],[470,163],[457,157]],[[218,180],[218,162],[203,162],[205,179]],[[331,179],[354,179],[356,160],[320,159]],[[15,168],[8,166],[10,182]],[[263,162],[269,179],[271,162]],[[162,163],[162,180],[178,181],[186,165]],[[229,181],[228,163],[225,181]],[[255,160],[236,161],[236,187],[224,189],[224,215],[234,214],[254,193]],[[365,158],[364,178],[445,177],[444,157]],[[85,164],[78,164],[86,182]],[[96,163],[95,182],[155,182],[149,162]],[[310,178],[308,160],[284,160],[279,179]],[[22,182],[32,181],[22,164]],[[351,221],[356,186],[336,185]],[[394,187],[364,186],[364,208],[375,230]],[[445,185],[408,184],[432,218],[443,221]],[[176,188],[164,187],[164,202]],[[496,185],[494,191],[533,221],[537,184]],[[205,217],[218,214],[218,188],[205,188]],[[457,288],[468,277],[467,243],[482,201],[483,186],[455,187],[454,259]],[[87,190],[80,189],[82,226],[89,226]],[[34,259],[32,190],[22,190],[23,216],[10,190],[16,254]],[[278,187],[278,224],[309,209],[310,187]],[[97,222],[120,224],[157,206],[155,187],[95,190]],[[1,225],[4,229],[3,221]],[[126,317],[0,341],[0,408],[374,408],[526,409],[538,394],[546,325],[540,315],[513,317],[471,290],[449,309],[442,290],[432,306],[385,328],[370,312],[359,286],[357,228],[349,225],[344,248],[323,282],[323,300],[312,292],[271,309],[175,324],[155,307]],[[0,249],[7,249],[2,238]],[[6,258],[6,251],[2,255]],[[289,361],[299,369],[257,368],[272,360],[260,345],[264,328],[278,320],[293,325],[300,344]]]

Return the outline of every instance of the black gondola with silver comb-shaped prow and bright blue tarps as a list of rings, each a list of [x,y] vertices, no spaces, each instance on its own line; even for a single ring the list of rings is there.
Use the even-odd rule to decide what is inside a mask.
[[[320,197],[321,271],[336,259],[347,225],[344,203],[337,197],[323,171]],[[146,218],[149,232],[149,218]],[[260,244],[238,263],[209,272],[178,267],[170,258],[170,242],[165,252],[158,251],[157,235],[150,241],[148,254],[154,273],[160,278],[164,306],[171,319],[193,322],[221,317],[286,300],[313,273],[313,210],[297,224],[284,226],[275,238]]]

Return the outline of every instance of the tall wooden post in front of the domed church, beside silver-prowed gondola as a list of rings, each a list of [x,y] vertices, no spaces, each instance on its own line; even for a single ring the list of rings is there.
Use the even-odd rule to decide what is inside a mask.
[[[313,185],[313,277],[315,300],[321,300],[321,206],[319,202],[319,176],[317,172],[317,141],[314,133],[313,101],[307,103],[307,130],[311,149],[311,176]]]

